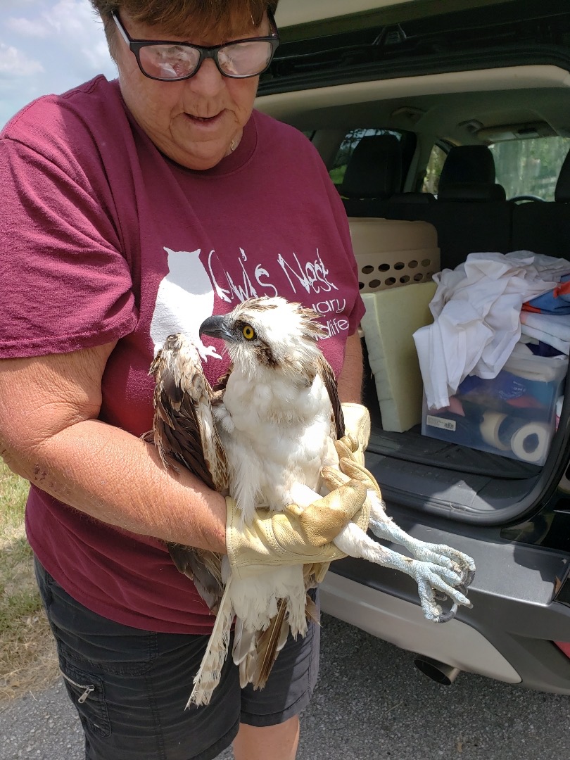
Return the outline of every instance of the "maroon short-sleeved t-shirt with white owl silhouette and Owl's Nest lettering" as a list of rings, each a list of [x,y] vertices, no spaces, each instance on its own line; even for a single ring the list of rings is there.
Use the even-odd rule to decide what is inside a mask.
[[[236,151],[207,171],[163,156],[97,77],[23,109],[0,134],[0,357],[118,340],[100,419],[152,424],[154,351],[198,343],[211,382],[227,358],[198,337],[213,313],[279,294],[311,306],[340,372],[363,315],[344,208],[315,148],[254,112]],[[47,571],[94,612],[140,629],[204,633],[212,616],[166,547],[32,487],[27,535]]]

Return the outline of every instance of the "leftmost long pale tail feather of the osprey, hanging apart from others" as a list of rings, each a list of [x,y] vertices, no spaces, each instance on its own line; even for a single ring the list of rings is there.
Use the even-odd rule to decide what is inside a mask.
[[[212,697],[214,689],[220,682],[223,663],[226,660],[230,648],[230,634],[233,621],[233,604],[230,588],[232,577],[228,578],[223,597],[220,601],[220,609],[216,616],[214,630],[211,632],[207,649],[202,657],[200,670],[194,679],[194,689],[188,699],[186,708],[190,705],[207,705]]]

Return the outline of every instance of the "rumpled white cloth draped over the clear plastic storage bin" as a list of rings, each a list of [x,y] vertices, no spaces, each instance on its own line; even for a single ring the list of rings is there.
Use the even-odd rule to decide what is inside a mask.
[[[448,407],[464,378],[495,378],[521,337],[523,302],[553,290],[570,261],[530,251],[470,253],[435,274],[435,321],[413,334],[429,409]]]

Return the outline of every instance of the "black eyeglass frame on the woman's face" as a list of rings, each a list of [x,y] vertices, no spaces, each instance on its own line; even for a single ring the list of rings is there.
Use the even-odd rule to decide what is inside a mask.
[[[112,13],[112,18],[115,21],[115,24],[117,26],[117,29],[121,33],[121,36],[123,40],[125,40],[125,43],[128,45],[129,49],[131,50],[131,53],[135,55],[135,58],[137,59],[138,68],[141,70],[141,74],[144,74],[145,77],[149,79],[154,79],[158,82],[181,82],[185,79],[191,79],[195,74],[198,74],[198,71],[204,62],[205,59],[211,58],[214,63],[216,64],[217,70],[220,71],[220,74],[222,74],[223,77],[227,77],[229,79],[251,79],[252,77],[258,77],[260,74],[263,74],[264,71],[267,71],[268,68],[271,66],[271,61],[273,60],[273,57],[275,55],[275,51],[277,50],[277,47],[280,43],[280,37],[279,37],[279,30],[277,30],[277,24],[275,24],[275,19],[273,14],[268,8],[268,20],[269,24],[271,26],[271,35],[264,36],[264,37],[244,37],[241,40],[228,40],[228,42],[223,43],[223,45],[212,45],[209,47],[202,46],[202,45],[193,45],[192,43],[181,43],[178,40],[134,40],[131,35],[128,33],[128,31],[125,29],[125,27],[122,24],[122,21],[119,19],[119,15],[116,13]],[[271,55],[269,56],[268,65],[265,66],[261,71],[257,71],[255,74],[227,74],[226,71],[222,71],[222,68],[220,67],[220,62],[218,62],[217,54],[218,52],[230,45],[237,45],[238,43],[270,43],[271,44]],[[144,71],[144,68],[141,64],[141,48],[143,47],[151,47],[151,46],[157,46],[157,45],[176,45],[179,47],[189,47],[194,50],[198,50],[199,58],[198,63],[196,64],[196,68],[194,71],[192,71],[192,74],[186,74],[185,77],[177,77],[177,78],[161,78],[161,77],[153,77],[151,74],[147,74],[146,71]]]

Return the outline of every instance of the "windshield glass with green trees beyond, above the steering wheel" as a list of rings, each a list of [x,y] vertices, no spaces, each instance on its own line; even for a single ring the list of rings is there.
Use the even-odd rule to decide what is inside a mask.
[[[507,198],[534,195],[554,200],[554,190],[570,138],[530,138],[489,145],[495,159],[496,181]]]

